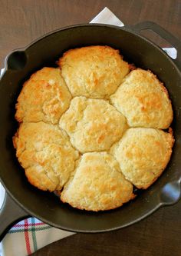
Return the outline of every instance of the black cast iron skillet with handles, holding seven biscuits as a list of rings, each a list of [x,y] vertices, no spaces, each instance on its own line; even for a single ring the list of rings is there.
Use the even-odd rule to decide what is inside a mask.
[[[178,52],[172,60],[152,42],[139,35],[151,29],[165,38]],[[173,102],[173,131],[176,143],[173,155],[163,175],[146,191],[121,208],[104,212],[88,212],[61,204],[53,193],[39,191],[25,178],[15,157],[12,135],[15,101],[23,82],[44,66],[52,66],[67,49],[85,45],[110,45],[119,48],[129,62],[140,68],[150,68],[169,90]],[[12,52],[5,60],[5,73],[0,81],[0,177],[8,194],[1,211],[1,238],[11,224],[35,216],[67,231],[100,232],[127,227],[156,209],[176,203],[180,198],[181,181],[181,43],[153,22],[143,22],[127,28],[112,25],[75,25],[62,28],[33,42],[27,48]]]

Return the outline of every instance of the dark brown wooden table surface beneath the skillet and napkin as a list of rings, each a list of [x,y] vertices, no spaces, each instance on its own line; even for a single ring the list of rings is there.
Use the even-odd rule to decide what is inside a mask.
[[[90,22],[105,6],[126,25],[149,20],[181,40],[180,0],[1,0],[0,68],[12,49],[67,25]],[[160,46],[169,46],[158,36]],[[54,242],[34,255],[180,256],[181,203],[162,208],[129,228],[104,234],[75,234]]]

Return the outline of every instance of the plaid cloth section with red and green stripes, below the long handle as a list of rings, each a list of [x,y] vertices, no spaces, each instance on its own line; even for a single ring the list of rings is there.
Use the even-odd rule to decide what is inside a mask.
[[[53,228],[37,218],[26,218],[15,224],[2,240],[2,256],[25,256],[72,232]]]

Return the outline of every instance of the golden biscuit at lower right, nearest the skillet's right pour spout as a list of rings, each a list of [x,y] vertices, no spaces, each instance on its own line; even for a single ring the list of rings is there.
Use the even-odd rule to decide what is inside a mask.
[[[173,135],[154,128],[130,128],[111,149],[124,177],[148,188],[162,174],[172,154]]]

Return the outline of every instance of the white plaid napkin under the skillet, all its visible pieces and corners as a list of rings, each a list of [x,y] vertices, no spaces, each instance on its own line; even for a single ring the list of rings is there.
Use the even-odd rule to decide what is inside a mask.
[[[113,12],[105,7],[91,23],[124,26]],[[171,58],[176,58],[175,48],[163,48]],[[3,69],[1,73],[3,73]],[[4,200],[5,189],[0,183],[0,208]],[[0,244],[0,256],[25,256],[54,241],[65,238],[73,232],[53,228],[37,218],[28,218],[15,224]],[[18,244],[18,246],[17,246]]]

